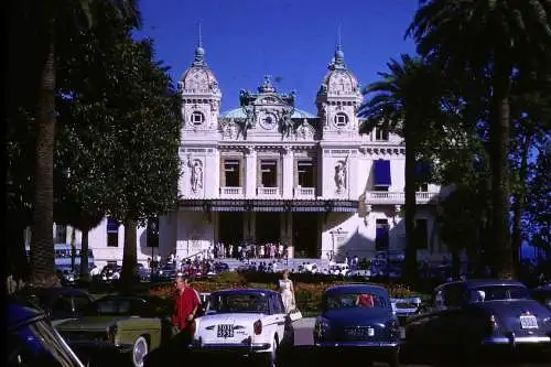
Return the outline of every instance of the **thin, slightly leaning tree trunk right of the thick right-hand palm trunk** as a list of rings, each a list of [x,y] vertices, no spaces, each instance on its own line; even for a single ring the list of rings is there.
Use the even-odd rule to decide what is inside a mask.
[[[520,168],[519,168],[519,188],[515,194],[515,205],[512,209],[512,235],[511,235],[511,255],[515,272],[520,276],[520,246],[522,245],[522,228],[520,219],[525,209],[525,185],[526,175],[528,171],[528,153],[530,151],[530,133],[526,132],[525,141],[522,144]]]

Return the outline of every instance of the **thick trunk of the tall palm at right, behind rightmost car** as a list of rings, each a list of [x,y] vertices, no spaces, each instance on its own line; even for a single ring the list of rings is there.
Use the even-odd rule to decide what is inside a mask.
[[[498,67],[498,66],[496,66]],[[491,165],[491,273],[500,279],[515,278],[509,235],[509,73],[496,72],[493,118],[489,125]],[[501,77],[500,77],[501,76]]]

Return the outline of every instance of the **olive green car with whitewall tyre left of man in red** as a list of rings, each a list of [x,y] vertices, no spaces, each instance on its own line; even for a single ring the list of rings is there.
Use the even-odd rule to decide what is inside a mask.
[[[94,301],[78,319],[56,326],[75,349],[109,348],[130,354],[133,366],[143,366],[145,355],[166,337],[170,321],[166,309],[153,298],[107,295]]]

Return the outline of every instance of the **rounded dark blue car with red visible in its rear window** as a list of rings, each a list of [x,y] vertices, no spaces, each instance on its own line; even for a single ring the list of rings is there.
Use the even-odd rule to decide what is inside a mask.
[[[313,336],[317,347],[366,352],[370,359],[399,365],[400,326],[382,287],[329,287]]]

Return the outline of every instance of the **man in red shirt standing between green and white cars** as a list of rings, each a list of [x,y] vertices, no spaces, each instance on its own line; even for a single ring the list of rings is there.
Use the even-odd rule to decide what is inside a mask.
[[[186,277],[179,276],[175,281],[176,294],[174,314],[172,315],[173,335],[184,332],[185,339],[191,343],[195,332],[195,314],[199,307],[197,292],[190,285]]]

